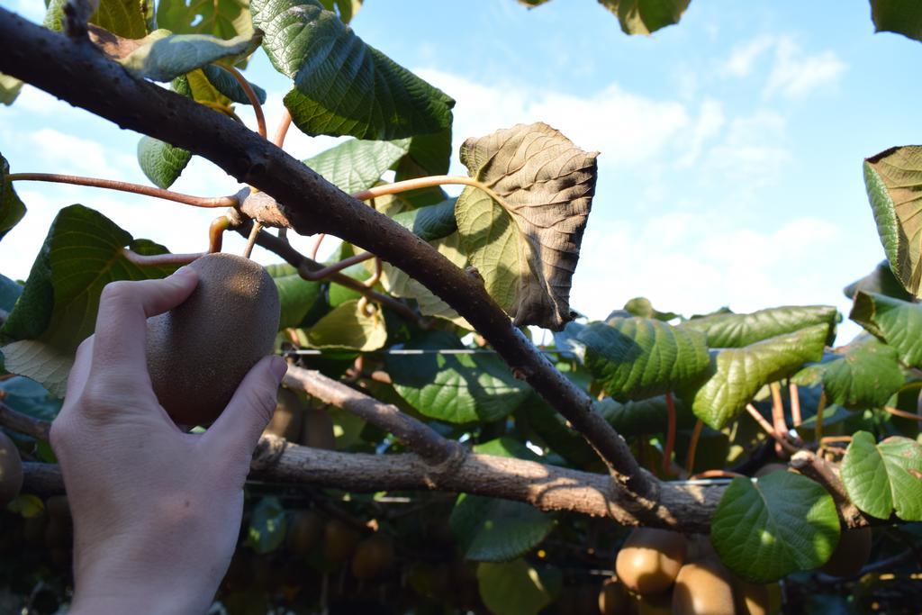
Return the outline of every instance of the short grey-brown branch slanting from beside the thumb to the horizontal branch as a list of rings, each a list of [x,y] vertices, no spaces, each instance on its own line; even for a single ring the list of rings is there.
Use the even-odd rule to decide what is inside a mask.
[[[348,384],[327,378],[320,372],[291,365],[282,384],[304,391],[327,404],[367,420],[385,432],[393,433],[397,440],[406,444],[410,450],[430,464],[442,464],[452,457],[464,455],[464,449],[460,444],[443,438],[429,425],[404,414],[396,406],[364,395]]]

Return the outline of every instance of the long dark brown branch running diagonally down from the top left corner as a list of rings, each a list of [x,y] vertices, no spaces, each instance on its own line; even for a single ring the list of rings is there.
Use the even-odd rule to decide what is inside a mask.
[[[0,72],[123,128],[211,160],[281,204],[284,219],[258,219],[261,223],[289,226],[305,235],[335,234],[400,267],[464,316],[517,376],[585,436],[609,464],[613,478],[638,502],[656,497],[656,480],[641,470],[621,436],[593,411],[592,399],[512,325],[479,278],[458,269],[412,232],[230,118],[131,76],[89,41],[68,40],[3,8]]]

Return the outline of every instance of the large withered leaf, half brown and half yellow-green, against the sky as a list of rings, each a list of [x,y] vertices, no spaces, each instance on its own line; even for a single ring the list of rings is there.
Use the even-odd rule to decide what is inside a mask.
[[[596,191],[597,153],[548,124],[517,124],[461,146],[490,192],[468,186],[455,217],[461,244],[515,325],[559,331],[573,320],[570,287]]]

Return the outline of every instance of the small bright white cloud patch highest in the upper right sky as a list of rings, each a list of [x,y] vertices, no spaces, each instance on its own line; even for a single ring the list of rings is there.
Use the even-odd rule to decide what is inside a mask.
[[[814,90],[833,85],[845,68],[845,62],[831,51],[809,55],[796,42],[783,38],[775,48],[774,66],[765,93],[803,98]]]

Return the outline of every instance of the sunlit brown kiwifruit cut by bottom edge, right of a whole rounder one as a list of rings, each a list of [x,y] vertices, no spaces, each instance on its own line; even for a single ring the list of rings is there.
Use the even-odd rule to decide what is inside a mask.
[[[682,566],[672,588],[676,615],[734,615],[733,587],[724,565],[714,559]]]

